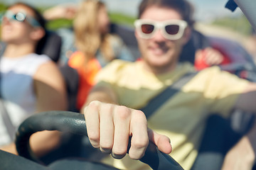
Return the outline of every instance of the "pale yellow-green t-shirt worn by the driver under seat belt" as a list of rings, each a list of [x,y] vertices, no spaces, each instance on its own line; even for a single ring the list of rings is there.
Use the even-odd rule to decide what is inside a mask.
[[[142,62],[116,60],[102,69],[96,86],[108,86],[117,94],[120,105],[143,108],[161,91],[188,72],[191,64],[178,64],[173,72],[155,75],[147,72]],[[239,79],[218,67],[198,72],[181,91],[158,108],[148,120],[149,128],[171,139],[173,157],[183,169],[191,169],[198,154],[206,118],[210,113],[228,116],[239,94],[248,81]],[[112,159],[103,162],[119,169],[150,169],[142,162],[129,159]]]

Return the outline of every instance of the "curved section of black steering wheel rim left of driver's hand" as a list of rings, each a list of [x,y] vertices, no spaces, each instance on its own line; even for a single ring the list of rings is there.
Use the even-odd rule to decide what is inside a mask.
[[[48,111],[31,115],[23,121],[16,132],[16,149],[20,156],[41,163],[33,154],[29,139],[33,133],[43,130],[58,130],[77,135],[87,135],[84,116],[69,111]]]

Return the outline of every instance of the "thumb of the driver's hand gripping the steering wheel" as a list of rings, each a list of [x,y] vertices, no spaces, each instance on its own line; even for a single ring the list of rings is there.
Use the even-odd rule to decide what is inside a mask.
[[[160,135],[157,132],[154,132],[154,130],[151,130],[148,128],[148,135],[149,140],[158,147],[158,149],[161,152],[164,152],[165,154],[170,154],[172,147],[171,147],[171,140],[169,137],[166,137],[165,135]]]

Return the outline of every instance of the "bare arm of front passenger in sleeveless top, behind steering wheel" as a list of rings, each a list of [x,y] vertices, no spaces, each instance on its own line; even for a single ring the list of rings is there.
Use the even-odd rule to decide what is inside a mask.
[[[65,81],[54,62],[39,67],[33,77],[37,98],[36,112],[65,111],[68,108]],[[43,131],[31,136],[31,148],[38,156],[47,154],[60,144],[60,132]]]

